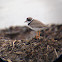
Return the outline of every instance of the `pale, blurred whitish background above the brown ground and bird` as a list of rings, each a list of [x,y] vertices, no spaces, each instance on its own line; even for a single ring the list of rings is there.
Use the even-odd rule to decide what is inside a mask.
[[[0,0],[0,29],[27,25],[27,17],[62,24],[62,0]]]

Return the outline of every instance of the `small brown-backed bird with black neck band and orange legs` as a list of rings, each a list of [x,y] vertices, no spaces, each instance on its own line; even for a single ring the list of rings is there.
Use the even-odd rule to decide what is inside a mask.
[[[36,39],[40,37],[40,30],[43,30],[46,28],[46,25],[43,24],[42,22],[33,19],[32,17],[28,17],[26,21],[28,23],[28,27],[31,28],[32,30],[36,31]]]

